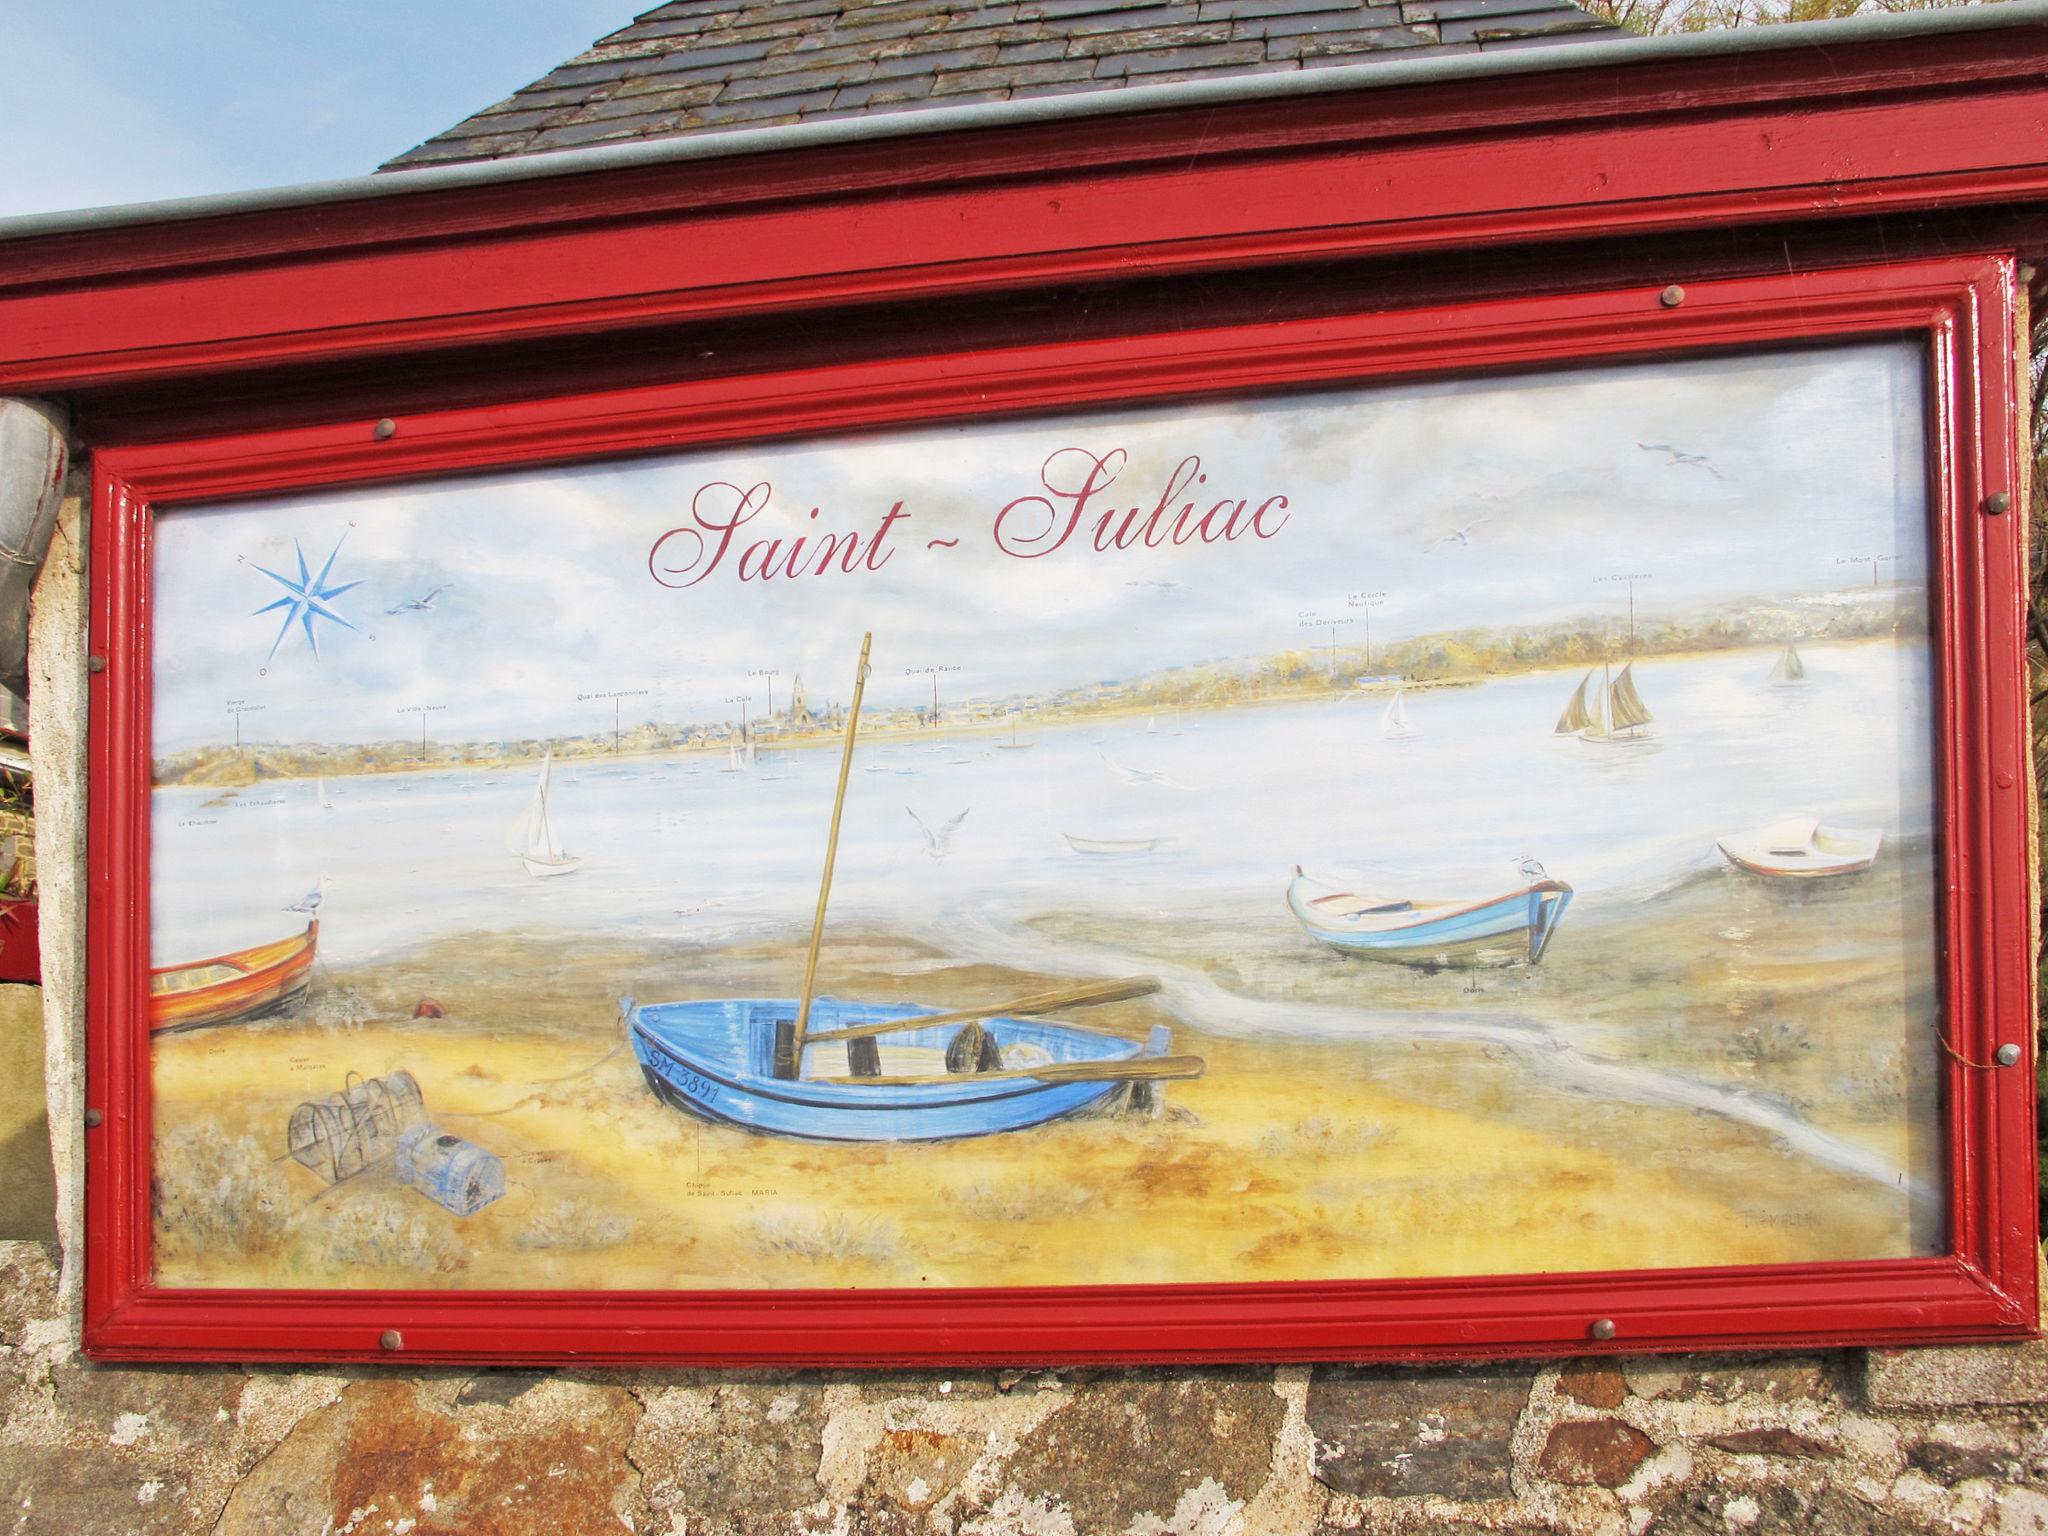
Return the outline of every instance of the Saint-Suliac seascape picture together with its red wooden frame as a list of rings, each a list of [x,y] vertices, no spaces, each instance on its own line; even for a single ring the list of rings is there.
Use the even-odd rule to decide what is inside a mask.
[[[88,1350],[2032,1329],[2015,303],[102,449]]]

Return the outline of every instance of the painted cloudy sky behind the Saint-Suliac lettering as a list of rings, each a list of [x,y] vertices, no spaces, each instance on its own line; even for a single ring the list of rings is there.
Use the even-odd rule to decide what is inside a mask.
[[[1305,614],[1354,614],[1366,592],[1384,594],[1374,635],[1391,639],[1581,614],[1620,627],[1616,573],[1649,575],[1645,616],[1862,588],[1868,567],[1851,557],[1884,555],[1888,578],[1917,582],[1923,367],[1892,342],[735,444],[174,512],[156,545],[156,741],[227,739],[231,700],[260,707],[279,741],[389,739],[422,707],[444,739],[569,735],[610,725],[612,690],[645,690],[647,717],[715,721],[737,717],[735,696],[766,705],[750,680],[762,668],[844,696],[862,629],[877,631],[868,698],[893,709],[928,696],[928,666],[956,670],[948,696],[993,700],[1315,645],[1325,631]],[[1090,522],[1030,559],[1001,553],[997,510],[1038,494],[1047,461],[1075,449],[1128,455],[1092,514],[1149,510],[1200,455],[1208,481],[1174,506],[1284,494],[1284,526],[1096,553]],[[772,489],[723,565],[657,586],[655,541],[692,524],[702,487],[731,487],[711,492],[717,518],[756,483]],[[737,580],[745,543],[866,541],[897,502],[907,520],[879,571]],[[1024,547],[1044,526],[1020,514],[1012,530]],[[664,565],[688,565],[700,547],[662,549]],[[317,653],[303,631],[281,633],[293,614],[272,606],[283,586],[264,573],[297,580],[301,551],[313,575],[332,555],[328,586],[358,584],[332,604],[340,623],[315,618]]]

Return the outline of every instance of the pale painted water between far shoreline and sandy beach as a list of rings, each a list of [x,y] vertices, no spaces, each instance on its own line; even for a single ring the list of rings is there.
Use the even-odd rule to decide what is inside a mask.
[[[831,922],[944,932],[1087,909],[1286,924],[1296,864],[1407,897],[1485,895],[1538,860],[1581,909],[1718,862],[1714,838],[1784,817],[1931,827],[1927,655],[1804,647],[1642,662],[1653,741],[1552,727],[1579,672],[1407,692],[858,745]],[[506,831],[537,770],[328,778],[154,801],[154,963],[264,942],[322,891],[322,954],[373,961],[465,932],[725,940],[805,928],[817,897],[836,748],[557,762],[553,821],[582,866],[532,879]],[[965,819],[944,831],[956,817]],[[1085,856],[1065,834],[1157,840]]]

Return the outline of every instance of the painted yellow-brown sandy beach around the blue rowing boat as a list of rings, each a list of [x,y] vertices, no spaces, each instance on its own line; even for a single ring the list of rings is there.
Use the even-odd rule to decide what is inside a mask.
[[[156,1040],[160,1278],[1036,1286],[1933,1251],[1939,1210],[1901,1182],[1937,1178],[1937,1151],[1903,1130],[1935,1122],[1937,1047],[1874,1028],[1868,1008],[1898,995],[1925,913],[1874,870],[1804,897],[1825,901],[1817,950],[1774,938],[1790,899],[1716,870],[1575,918],[1542,967],[1477,975],[1348,961],[1284,924],[1126,932],[1120,948],[1167,987],[1092,1022],[1169,1024],[1204,1077],[1157,1114],[932,1145],[778,1141],[647,1092],[616,997],[788,995],[795,930],[717,946],[469,936],[322,967],[297,1018]],[[1085,952],[1085,911],[1038,928]],[[942,1008],[1067,979],[1087,977],[868,930],[834,934],[821,989]],[[1303,1028],[1190,1028],[1176,1006],[1200,987]],[[422,997],[444,1018],[414,1020]],[[330,1188],[285,1155],[299,1102],[397,1069],[436,1126],[504,1159],[502,1200],[457,1217],[387,1167]]]

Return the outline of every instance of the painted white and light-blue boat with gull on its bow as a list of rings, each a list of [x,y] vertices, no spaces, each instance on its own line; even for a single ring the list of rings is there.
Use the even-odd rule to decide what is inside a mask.
[[[1294,866],[1286,905],[1323,944],[1362,961],[1425,971],[1536,965],[1571,905],[1571,887],[1524,860],[1526,885],[1477,901],[1411,901],[1362,895],[1315,881]]]

